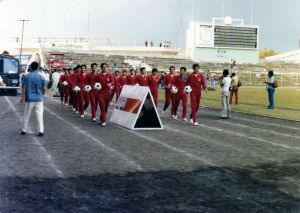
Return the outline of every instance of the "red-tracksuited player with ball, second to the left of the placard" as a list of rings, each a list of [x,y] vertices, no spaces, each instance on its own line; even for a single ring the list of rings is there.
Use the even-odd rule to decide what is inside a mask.
[[[91,101],[91,111],[92,111],[92,120],[96,122],[96,112],[97,112],[97,106],[98,106],[98,91],[94,89],[95,85],[95,79],[98,75],[98,65],[96,63],[93,63],[91,65],[92,72],[88,73],[86,76],[86,82],[88,85],[92,87],[92,90],[90,91],[90,101]]]

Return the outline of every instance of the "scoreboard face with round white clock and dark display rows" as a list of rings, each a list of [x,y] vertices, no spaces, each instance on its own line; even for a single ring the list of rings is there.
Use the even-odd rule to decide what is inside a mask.
[[[257,49],[257,27],[198,25],[197,46],[215,48]]]

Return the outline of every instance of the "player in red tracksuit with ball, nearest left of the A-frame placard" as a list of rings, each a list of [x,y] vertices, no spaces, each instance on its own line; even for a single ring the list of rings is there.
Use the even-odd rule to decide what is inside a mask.
[[[106,63],[101,64],[101,73],[96,76],[95,82],[99,82],[102,86],[98,92],[98,101],[101,109],[101,125],[105,127],[106,113],[111,98],[111,85],[114,84],[114,78],[112,74],[108,72],[108,65]]]

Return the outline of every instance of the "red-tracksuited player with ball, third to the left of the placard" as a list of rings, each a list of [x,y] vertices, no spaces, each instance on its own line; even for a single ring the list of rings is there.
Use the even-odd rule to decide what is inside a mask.
[[[86,73],[86,65],[81,65],[81,73],[77,75],[77,85],[80,87],[79,92],[79,110],[81,113],[81,117],[84,118],[84,111],[90,105],[90,95],[89,92],[84,90],[84,87],[87,84],[87,73]]]

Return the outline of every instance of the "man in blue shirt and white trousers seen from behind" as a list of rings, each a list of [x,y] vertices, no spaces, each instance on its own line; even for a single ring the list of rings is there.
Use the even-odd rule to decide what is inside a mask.
[[[26,130],[32,109],[35,109],[38,127],[39,127],[39,136],[44,135],[44,121],[43,121],[43,94],[46,91],[46,81],[45,79],[38,74],[39,64],[37,62],[32,62],[31,72],[28,75],[24,76],[22,82],[22,96],[21,103],[25,101],[25,110],[23,116],[23,127],[21,135],[26,135]]]

